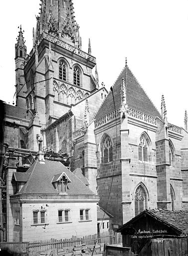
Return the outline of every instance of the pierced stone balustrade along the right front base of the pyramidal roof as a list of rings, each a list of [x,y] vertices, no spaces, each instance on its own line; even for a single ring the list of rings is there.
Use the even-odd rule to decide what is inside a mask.
[[[157,126],[157,118],[129,107],[129,116]]]

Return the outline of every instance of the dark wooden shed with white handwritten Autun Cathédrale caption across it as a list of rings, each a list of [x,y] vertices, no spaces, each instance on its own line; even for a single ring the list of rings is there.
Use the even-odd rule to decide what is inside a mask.
[[[187,256],[188,210],[145,210],[122,225],[123,246],[139,256]]]

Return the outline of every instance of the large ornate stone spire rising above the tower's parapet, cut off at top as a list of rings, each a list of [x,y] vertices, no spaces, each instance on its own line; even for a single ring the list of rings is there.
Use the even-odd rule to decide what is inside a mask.
[[[79,25],[75,20],[72,0],[40,1],[35,40],[45,31],[79,48]]]

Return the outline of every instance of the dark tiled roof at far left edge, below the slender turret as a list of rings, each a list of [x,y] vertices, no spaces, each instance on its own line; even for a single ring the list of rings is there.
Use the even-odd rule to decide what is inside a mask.
[[[5,116],[29,120],[32,115],[25,108],[5,104]]]

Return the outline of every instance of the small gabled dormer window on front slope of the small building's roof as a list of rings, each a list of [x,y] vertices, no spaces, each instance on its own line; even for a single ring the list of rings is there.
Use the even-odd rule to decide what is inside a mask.
[[[51,181],[59,193],[67,193],[67,183],[71,182],[65,172],[55,174]]]

